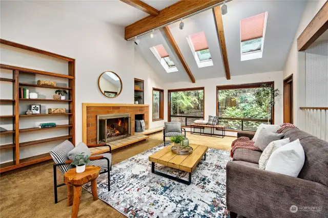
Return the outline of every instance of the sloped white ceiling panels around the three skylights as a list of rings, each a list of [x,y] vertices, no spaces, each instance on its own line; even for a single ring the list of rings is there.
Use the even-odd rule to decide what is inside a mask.
[[[274,72],[283,70],[288,57],[305,1],[231,1],[227,3],[228,13],[222,15],[224,35],[231,76]],[[240,60],[240,20],[268,11],[267,30],[264,39],[263,56],[259,59]],[[221,50],[212,10],[208,10],[183,20],[185,28],[179,29],[179,22],[170,25],[170,30],[185,58],[196,82],[197,79],[224,77]],[[186,37],[204,31],[214,65],[198,68]],[[155,31],[156,37],[149,34],[139,37],[141,42],[135,45],[138,52],[150,66],[167,81],[190,81],[178,57],[171,48],[162,31]],[[178,68],[178,72],[167,73],[149,50],[162,44]]]

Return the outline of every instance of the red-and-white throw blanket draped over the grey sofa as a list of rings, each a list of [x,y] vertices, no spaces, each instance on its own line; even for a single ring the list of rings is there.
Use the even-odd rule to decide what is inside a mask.
[[[295,125],[291,123],[283,123],[280,125],[280,128],[278,129],[277,133],[281,133],[284,129],[295,127]],[[234,156],[234,152],[237,148],[245,148],[249,150],[260,150],[258,147],[254,146],[254,142],[250,140],[248,137],[240,137],[238,139],[235,139],[231,144],[231,151],[230,151],[230,157]]]

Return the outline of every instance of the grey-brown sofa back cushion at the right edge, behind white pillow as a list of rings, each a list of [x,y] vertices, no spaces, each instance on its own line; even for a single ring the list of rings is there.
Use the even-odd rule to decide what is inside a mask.
[[[328,142],[307,137],[300,140],[300,143],[304,149],[305,161],[298,178],[328,186]]]

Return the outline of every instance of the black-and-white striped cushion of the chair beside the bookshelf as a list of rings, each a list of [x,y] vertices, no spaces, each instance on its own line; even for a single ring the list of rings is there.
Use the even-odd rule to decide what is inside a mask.
[[[49,152],[52,157],[52,160],[58,164],[58,163],[65,163],[69,160],[68,158],[68,152],[71,151],[74,148],[74,145],[68,141],[65,140],[64,142],[60,143],[56,147],[52,148]],[[63,172],[67,172],[67,170],[73,168],[70,164],[60,165],[58,166],[59,170]]]

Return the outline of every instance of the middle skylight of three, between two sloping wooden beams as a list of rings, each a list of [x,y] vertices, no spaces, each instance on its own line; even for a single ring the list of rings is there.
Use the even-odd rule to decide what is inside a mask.
[[[198,68],[213,66],[212,56],[204,32],[188,36],[187,41]]]

